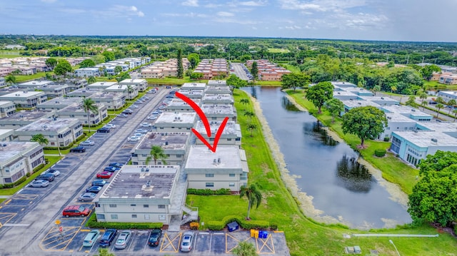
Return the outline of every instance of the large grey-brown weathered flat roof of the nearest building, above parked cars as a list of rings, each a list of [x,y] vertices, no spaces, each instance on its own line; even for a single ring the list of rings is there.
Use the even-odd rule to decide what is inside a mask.
[[[100,199],[168,199],[178,173],[178,165],[124,165]]]

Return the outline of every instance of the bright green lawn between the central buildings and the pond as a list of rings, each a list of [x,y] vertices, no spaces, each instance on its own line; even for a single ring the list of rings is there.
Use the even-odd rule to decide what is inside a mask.
[[[298,96],[298,93],[296,93]],[[263,200],[258,209],[251,210],[252,220],[267,220],[278,225],[286,235],[287,245],[291,255],[344,255],[346,246],[360,245],[363,255],[369,250],[376,249],[379,255],[396,255],[389,239],[395,242],[401,255],[456,255],[456,240],[446,233],[434,238],[417,237],[370,237],[344,239],[343,233],[363,233],[349,230],[342,225],[323,225],[308,219],[301,213],[298,202],[288,193],[281,180],[273,155],[263,138],[261,129],[253,131],[253,137],[246,130],[247,123],[254,123],[258,128],[258,119],[248,120],[242,113],[253,111],[251,105],[243,105],[241,98],[248,98],[240,90],[233,93],[235,106],[238,111],[238,123],[243,135],[242,148],[246,150],[249,166],[249,183],[257,183],[263,192]],[[298,97],[299,98],[299,97]],[[329,121],[330,118],[324,118]],[[360,143],[360,142],[359,142]],[[188,195],[186,203],[199,208],[201,222],[221,220],[226,215],[246,216],[247,200],[238,195],[199,196]],[[205,229],[205,227],[201,227]],[[398,227],[391,230],[371,230],[371,232],[386,234],[436,234],[433,227],[423,225],[409,228]]]

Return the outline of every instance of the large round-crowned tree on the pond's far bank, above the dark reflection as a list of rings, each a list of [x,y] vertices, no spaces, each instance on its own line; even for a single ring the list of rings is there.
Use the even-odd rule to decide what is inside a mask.
[[[386,114],[373,106],[352,108],[343,115],[343,133],[351,133],[361,139],[361,148],[366,139],[377,138],[387,126]]]

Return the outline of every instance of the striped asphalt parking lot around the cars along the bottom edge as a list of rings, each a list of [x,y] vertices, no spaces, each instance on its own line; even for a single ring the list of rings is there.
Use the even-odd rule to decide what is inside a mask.
[[[83,247],[82,241],[90,230],[78,226],[66,227],[59,232],[59,227],[52,227],[41,240],[40,247],[44,252],[60,252],[62,255],[93,254],[99,250],[96,242],[92,247]],[[119,233],[119,232],[118,232]],[[103,232],[101,232],[101,235]],[[123,250],[107,247],[115,255],[171,255],[179,251],[183,232],[164,232],[159,245],[148,245],[149,230],[134,230],[132,237]],[[269,232],[266,238],[251,237],[248,231],[238,232],[196,232],[190,255],[233,255],[238,242],[253,243],[258,255],[289,255],[286,239],[282,232]]]

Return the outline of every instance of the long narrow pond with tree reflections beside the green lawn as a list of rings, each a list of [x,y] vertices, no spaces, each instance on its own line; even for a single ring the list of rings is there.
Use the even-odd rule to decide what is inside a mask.
[[[318,221],[341,222],[369,229],[411,222],[406,205],[394,201],[385,180],[359,164],[346,143],[327,135],[321,123],[299,111],[280,88],[246,87],[255,96],[288,171],[306,193],[306,215]],[[387,185],[386,185],[387,184]],[[287,184],[286,184],[287,185]],[[392,190],[389,190],[390,192]]]

